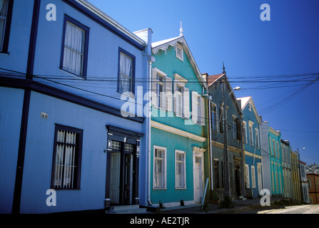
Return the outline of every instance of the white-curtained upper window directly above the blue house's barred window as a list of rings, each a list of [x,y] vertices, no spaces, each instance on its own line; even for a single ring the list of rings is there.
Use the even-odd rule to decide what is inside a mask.
[[[60,68],[82,78],[86,78],[88,29],[65,15]]]

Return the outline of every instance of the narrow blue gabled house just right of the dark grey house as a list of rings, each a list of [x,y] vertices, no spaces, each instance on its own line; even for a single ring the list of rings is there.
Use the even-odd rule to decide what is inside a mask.
[[[245,148],[245,193],[255,198],[263,189],[260,143],[260,118],[252,97],[238,98],[243,111],[243,144]]]

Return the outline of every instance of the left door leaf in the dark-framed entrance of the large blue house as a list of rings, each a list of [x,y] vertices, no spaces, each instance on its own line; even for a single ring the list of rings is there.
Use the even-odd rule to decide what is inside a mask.
[[[119,203],[120,193],[120,152],[111,153],[110,164],[110,199],[111,204]]]

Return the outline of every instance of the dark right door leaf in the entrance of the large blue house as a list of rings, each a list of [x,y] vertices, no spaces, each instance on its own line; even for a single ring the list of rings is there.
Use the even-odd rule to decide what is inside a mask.
[[[131,154],[125,154],[124,162],[124,198],[123,204],[131,204],[131,182],[132,182],[132,162]]]

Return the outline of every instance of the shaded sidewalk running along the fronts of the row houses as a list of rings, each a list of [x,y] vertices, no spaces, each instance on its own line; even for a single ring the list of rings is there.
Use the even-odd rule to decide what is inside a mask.
[[[270,202],[278,201],[282,198],[271,197]],[[201,212],[201,204],[190,204],[180,207],[169,207],[161,209],[163,214],[231,214],[236,212],[242,212],[248,207],[260,206],[260,198],[256,199],[234,199],[233,208],[219,208],[219,204],[208,204],[208,209]]]

